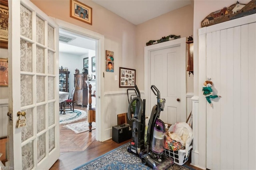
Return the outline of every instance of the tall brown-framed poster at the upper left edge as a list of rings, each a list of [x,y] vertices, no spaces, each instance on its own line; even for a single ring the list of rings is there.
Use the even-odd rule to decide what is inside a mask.
[[[8,0],[0,1],[0,48],[8,48]]]

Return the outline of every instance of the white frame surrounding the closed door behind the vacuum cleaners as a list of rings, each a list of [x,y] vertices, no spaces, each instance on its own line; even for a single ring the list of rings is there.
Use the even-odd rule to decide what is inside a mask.
[[[150,103],[150,91],[151,91],[150,90],[150,86],[151,86],[150,85],[150,52],[154,50],[170,48],[175,46],[180,46],[180,49],[181,49],[180,56],[184,56],[186,58],[186,38],[185,37],[144,47],[144,92],[145,92],[145,99],[146,101],[148,101],[148,103]],[[186,72],[186,68],[184,69],[184,72]],[[180,88],[186,89],[186,73],[184,73],[184,76],[185,76],[185,82],[181,83],[182,86]],[[184,94],[181,94],[181,95],[186,100],[186,91]],[[184,106],[184,111],[186,112],[186,105]],[[145,113],[146,114],[151,113],[150,105],[146,105]],[[150,115],[146,115],[146,116],[150,116]]]

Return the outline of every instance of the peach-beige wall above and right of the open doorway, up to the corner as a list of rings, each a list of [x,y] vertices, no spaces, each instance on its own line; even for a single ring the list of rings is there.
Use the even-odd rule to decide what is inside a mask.
[[[104,35],[104,50],[114,51],[114,73],[105,72],[105,92],[121,91],[119,82],[114,81],[114,75],[119,77],[119,67],[136,68],[136,26],[98,4],[79,0],[92,7],[92,26],[70,18],[70,0],[31,0],[48,16],[75,24]],[[138,83],[144,85],[143,80]]]

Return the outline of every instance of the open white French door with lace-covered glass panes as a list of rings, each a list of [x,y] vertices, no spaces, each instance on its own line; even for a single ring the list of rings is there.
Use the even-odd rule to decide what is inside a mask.
[[[8,161],[49,169],[60,156],[58,25],[28,0],[10,0],[9,10]]]

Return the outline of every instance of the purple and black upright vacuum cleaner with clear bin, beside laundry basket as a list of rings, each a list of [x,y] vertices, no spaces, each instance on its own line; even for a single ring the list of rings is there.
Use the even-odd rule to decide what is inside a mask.
[[[154,170],[164,170],[174,162],[172,158],[164,156],[164,122],[159,119],[160,112],[164,110],[165,99],[160,98],[160,91],[154,86],[151,90],[157,96],[157,105],[154,105],[148,122],[146,153],[142,155],[141,161]]]

